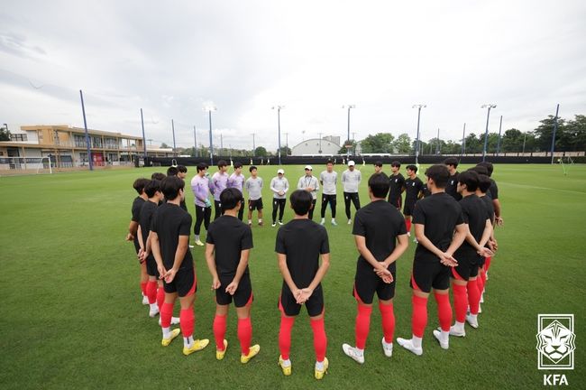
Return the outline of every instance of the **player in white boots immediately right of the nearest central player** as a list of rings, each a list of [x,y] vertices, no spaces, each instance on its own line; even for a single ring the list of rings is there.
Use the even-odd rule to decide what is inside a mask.
[[[379,297],[382,320],[382,350],[387,357],[393,353],[395,314],[393,297],[397,275],[397,259],[407,250],[408,238],[403,216],[385,201],[389,177],[380,172],[369,179],[371,203],[356,212],[353,235],[360,253],[354,276],[353,295],[358,304],[355,347],[343,344],[343,352],[358,363],[364,363],[364,347],[371,326],[372,299]]]

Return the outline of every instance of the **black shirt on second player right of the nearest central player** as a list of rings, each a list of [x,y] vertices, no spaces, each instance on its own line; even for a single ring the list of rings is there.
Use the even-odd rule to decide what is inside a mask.
[[[444,252],[452,243],[456,225],[463,223],[462,207],[450,195],[438,192],[417,201],[413,211],[413,223],[425,225],[426,237]],[[439,257],[421,244],[417,244],[415,259],[439,261]]]

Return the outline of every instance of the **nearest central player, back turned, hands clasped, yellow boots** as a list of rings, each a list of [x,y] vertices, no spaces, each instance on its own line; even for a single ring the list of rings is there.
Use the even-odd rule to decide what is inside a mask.
[[[295,218],[279,228],[275,244],[279,270],[283,275],[283,286],[279,296],[279,366],[285,376],[291,375],[291,330],[295,317],[305,304],[314,333],[314,376],[316,379],[322,379],[329,363],[325,357],[327,338],[321,281],[330,266],[330,247],[325,228],[308,218],[313,202],[311,194],[307,190],[295,190],[289,201],[291,209],[295,211]]]

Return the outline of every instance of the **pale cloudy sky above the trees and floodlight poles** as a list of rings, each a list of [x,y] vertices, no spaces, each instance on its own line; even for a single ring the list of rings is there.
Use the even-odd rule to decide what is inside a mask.
[[[457,140],[586,114],[586,2],[8,1],[0,123],[83,126],[178,146],[277,147],[380,132]]]

